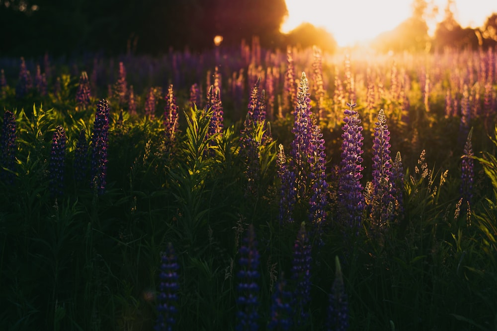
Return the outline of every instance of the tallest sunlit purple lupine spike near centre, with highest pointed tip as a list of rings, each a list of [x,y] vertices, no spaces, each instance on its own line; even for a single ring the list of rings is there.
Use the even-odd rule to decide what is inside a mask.
[[[309,178],[309,141],[311,139],[311,129],[313,125],[311,98],[309,93],[309,84],[305,72],[302,72],[300,80],[299,93],[297,97],[297,106],[295,108],[295,122],[292,128],[294,139],[291,143],[291,168],[295,171],[297,193],[300,198],[305,198],[307,179]]]

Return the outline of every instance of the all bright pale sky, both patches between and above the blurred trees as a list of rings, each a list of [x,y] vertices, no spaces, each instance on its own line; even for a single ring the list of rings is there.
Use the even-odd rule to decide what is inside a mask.
[[[302,22],[324,27],[339,46],[353,45],[394,29],[411,16],[413,0],[286,0],[288,17],[282,32],[289,32]],[[428,1],[429,2],[429,1]],[[433,0],[438,16],[428,22],[431,33],[442,20],[447,0]],[[481,27],[487,17],[497,12],[497,0],[455,0],[453,12],[464,27]]]

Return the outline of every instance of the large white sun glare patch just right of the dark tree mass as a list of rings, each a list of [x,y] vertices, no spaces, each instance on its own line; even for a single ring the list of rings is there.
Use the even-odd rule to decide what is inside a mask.
[[[410,0],[286,0],[287,33],[303,22],[323,27],[338,46],[351,46],[394,29],[411,14]]]

